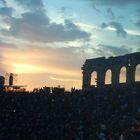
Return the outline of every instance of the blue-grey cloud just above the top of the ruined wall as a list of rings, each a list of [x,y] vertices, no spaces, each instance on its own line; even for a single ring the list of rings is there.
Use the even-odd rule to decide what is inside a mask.
[[[112,46],[112,45],[104,45],[99,44],[98,45],[98,52],[101,56],[118,56],[118,55],[124,55],[129,54],[132,52],[132,49],[129,49],[126,46]]]

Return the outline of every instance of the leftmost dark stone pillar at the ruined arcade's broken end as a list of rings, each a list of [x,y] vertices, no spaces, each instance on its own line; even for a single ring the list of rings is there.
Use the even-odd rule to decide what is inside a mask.
[[[90,81],[91,81],[91,73],[89,71],[83,71],[83,89],[90,88]]]

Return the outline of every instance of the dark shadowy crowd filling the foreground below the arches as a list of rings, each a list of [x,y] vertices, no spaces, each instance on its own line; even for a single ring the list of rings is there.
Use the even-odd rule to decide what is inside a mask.
[[[140,140],[140,90],[1,93],[0,140],[21,139]]]

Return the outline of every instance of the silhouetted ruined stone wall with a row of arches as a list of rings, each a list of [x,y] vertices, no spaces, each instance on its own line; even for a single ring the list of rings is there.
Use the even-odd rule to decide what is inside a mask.
[[[118,86],[122,67],[126,68],[126,84],[133,85],[135,83],[135,70],[138,64],[140,64],[140,52],[117,57],[87,59],[82,67],[83,89],[90,88],[91,74],[94,71],[97,72],[97,87],[105,86],[107,70],[112,72],[111,86]]]

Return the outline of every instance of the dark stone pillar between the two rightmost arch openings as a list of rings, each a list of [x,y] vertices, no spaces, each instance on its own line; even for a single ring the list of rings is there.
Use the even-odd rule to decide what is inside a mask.
[[[134,65],[128,65],[127,67],[127,78],[126,78],[126,84],[132,85],[135,83],[135,69],[136,66]]]

